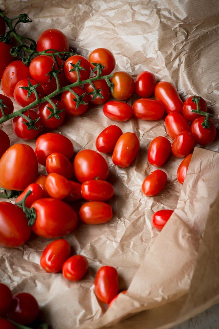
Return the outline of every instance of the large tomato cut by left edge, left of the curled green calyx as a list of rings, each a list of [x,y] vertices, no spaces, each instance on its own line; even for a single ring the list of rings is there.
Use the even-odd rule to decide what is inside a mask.
[[[18,247],[30,238],[30,233],[23,210],[10,202],[0,202],[0,245]]]

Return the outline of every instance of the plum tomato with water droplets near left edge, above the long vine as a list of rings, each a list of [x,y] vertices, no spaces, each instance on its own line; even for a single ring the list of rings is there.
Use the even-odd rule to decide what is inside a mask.
[[[29,67],[21,61],[11,62],[2,75],[2,91],[9,97],[14,97],[16,84],[24,79],[30,78]]]

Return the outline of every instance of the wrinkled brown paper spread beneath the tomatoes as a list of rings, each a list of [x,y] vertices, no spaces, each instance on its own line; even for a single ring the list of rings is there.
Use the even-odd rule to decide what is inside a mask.
[[[42,31],[58,28],[86,57],[97,47],[109,48],[116,58],[115,70],[128,71],[134,77],[149,70],[157,80],[172,82],[183,100],[201,95],[218,123],[217,1],[5,0],[0,4],[8,16],[25,12],[34,19],[20,24],[20,34],[37,40]],[[162,168],[168,174],[167,186],[160,195],[148,198],[141,185],[155,168],[147,161],[147,148],[156,136],[168,137],[164,120],[132,118],[117,123],[106,118],[102,108],[68,118],[56,130],[72,140],[76,152],[95,149],[96,137],[110,124],[136,133],[141,141],[137,160],[127,169],[115,167],[111,157],[104,155],[115,189],[109,202],[113,218],[102,225],[80,224],[65,237],[73,253],[88,258],[89,273],[72,283],[61,273],[44,272],[39,260],[50,240],[34,237],[21,247],[0,249],[0,280],[13,293],[31,292],[54,329],[170,328],[219,302],[215,261],[219,249],[219,154],[195,148],[183,187],[176,179],[182,160],[171,157]],[[21,142],[10,122],[3,129],[11,143]],[[34,141],[27,143],[35,147]],[[218,151],[218,139],[207,148]],[[154,212],[175,208],[161,233],[152,227]],[[95,273],[103,265],[116,267],[120,289],[129,288],[107,312],[93,286]],[[143,310],[147,311],[140,312]],[[119,322],[125,317],[130,318]]]

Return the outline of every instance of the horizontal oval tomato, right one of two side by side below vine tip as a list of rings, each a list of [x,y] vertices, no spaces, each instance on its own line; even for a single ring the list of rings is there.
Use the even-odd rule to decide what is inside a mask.
[[[137,99],[133,106],[133,114],[138,118],[146,121],[161,119],[164,115],[164,106],[161,102],[154,99],[140,98]]]

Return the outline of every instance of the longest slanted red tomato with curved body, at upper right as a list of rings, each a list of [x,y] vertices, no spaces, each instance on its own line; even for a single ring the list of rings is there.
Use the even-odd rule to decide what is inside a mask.
[[[154,90],[155,98],[160,101],[167,114],[182,113],[183,102],[178,94],[176,88],[167,81],[160,81]]]

